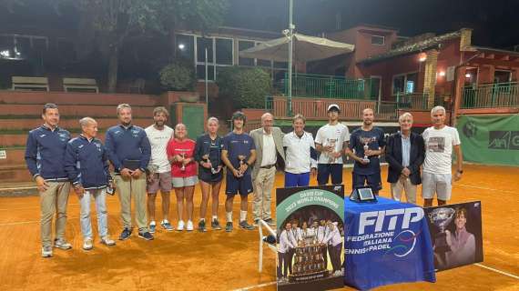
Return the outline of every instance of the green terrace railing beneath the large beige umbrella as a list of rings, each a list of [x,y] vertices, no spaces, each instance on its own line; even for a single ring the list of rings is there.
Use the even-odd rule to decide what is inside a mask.
[[[288,74],[276,88],[283,95],[289,94]],[[334,99],[376,99],[371,96],[371,79],[346,79],[336,75],[292,75],[292,96]],[[378,93],[378,92],[377,92]]]

